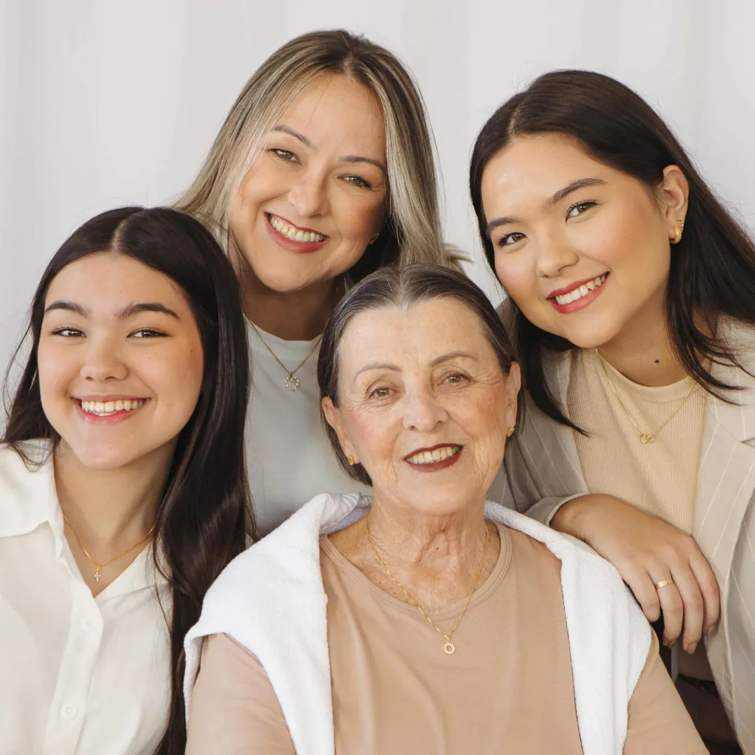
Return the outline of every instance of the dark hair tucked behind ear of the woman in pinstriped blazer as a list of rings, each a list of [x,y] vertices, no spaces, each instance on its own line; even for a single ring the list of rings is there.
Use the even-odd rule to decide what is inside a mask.
[[[470,165],[470,193],[485,257],[495,273],[495,252],[482,208],[482,174],[488,162],[519,136],[563,134],[595,159],[641,181],[655,193],[663,171],[677,165],[689,183],[684,235],[673,247],[666,286],[666,320],[673,350],[701,387],[723,398],[734,388],[713,377],[705,362],[738,362],[732,344],[716,332],[724,316],[755,324],[755,245],[707,186],[679,140],[658,113],[620,82],[590,71],[554,71],[535,79],[488,119]],[[504,316],[516,343],[522,376],[535,405],[550,418],[575,427],[547,384],[549,351],[576,348],[533,325],[510,297]],[[703,316],[713,333],[695,322]]]

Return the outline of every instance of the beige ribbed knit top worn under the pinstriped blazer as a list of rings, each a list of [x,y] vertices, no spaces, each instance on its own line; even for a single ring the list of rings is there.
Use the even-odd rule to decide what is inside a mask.
[[[590,492],[614,495],[687,533],[694,524],[707,402],[699,387],[685,399],[692,385],[690,377],[661,387],[639,385],[595,350],[582,349],[572,358],[566,394],[569,418],[590,433],[575,433]],[[652,442],[640,441],[627,412]]]

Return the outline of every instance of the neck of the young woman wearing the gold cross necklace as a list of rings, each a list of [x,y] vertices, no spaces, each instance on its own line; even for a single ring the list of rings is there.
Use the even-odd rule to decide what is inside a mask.
[[[95,562],[137,544],[155,523],[172,448],[116,470],[91,470],[61,442],[55,451],[55,487],[69,528]]]

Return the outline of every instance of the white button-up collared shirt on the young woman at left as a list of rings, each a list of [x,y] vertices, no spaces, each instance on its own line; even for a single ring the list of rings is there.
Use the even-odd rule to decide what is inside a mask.
[[[0,448],[0,755],[152,755],[171,678],[158,592],[169,612],[146,548],[92,596],[63,536],[51,458],[29,470]]]

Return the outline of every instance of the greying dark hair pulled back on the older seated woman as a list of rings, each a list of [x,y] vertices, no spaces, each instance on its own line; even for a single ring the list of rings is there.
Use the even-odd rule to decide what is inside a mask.
[[[495,351],[495,356],[498,357],[501,370],[504,374],[509,374],[514,361],[511,341],[488,297],[467,276],[439,265],[416,264],[405,267],[385,267],[371,273],[348,291],[328,320],[328,325],[322,334],[322,344],[320,344],[317,360],[320,400],[328,396],[334,406],[340,405],[338,352],[346,326],[354,316],[369,310],[384,310],[388,307],[408,309],[413,304],[432,299],[456,299],[468,307],[479,320],[489,344]],[[517,397],[517,402],[517,416],[522,417],[521,393]],[[322,414],[322,425],[338,463],[344,471],[358,482],[371,485],[370,476],[362,464],[349,464],[347,461],[335,430],[325,420],[325,414]]]

